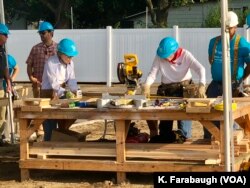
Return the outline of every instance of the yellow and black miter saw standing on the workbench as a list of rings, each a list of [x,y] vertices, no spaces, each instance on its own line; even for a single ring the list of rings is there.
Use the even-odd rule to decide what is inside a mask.
[[[134,95],[139,86],[142,72],[137,68],[138,58],[136,54],[125,54],[124,63],[118,63],[117,76],[122,84],[127,86],[127,94]]]

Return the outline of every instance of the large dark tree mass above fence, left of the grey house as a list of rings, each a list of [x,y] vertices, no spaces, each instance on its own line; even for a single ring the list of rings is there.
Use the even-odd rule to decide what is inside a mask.
[[[6,0],[9,22],[14,16],[27,23],[46,20],[55,28],[70,28],[71,7],[74,28],[118,26],[124,17],[145,11],[145,0]],[[21,10],[21,11],[20,11]]]

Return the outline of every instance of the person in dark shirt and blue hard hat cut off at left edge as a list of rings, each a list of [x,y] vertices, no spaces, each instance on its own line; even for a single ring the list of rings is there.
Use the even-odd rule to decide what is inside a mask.
[[[3,80],[6,81],[6,92],[11,93],[11,81],[10,81],[10,75],[8,71],[8,65],[7,65],[7,56],[6,51],[4,48],[4,45],[6,44],[8,40],[8,35],[10,34],[8,27],[5,24],[0,23],[0,81],[2,82],[0,84],[0,98],[5,97],[5,91],[3,88]],[[5,128],[6,124],[6,107],[0,107],[0,146],[3,144],[2,140],[2,134],[3,130]]]

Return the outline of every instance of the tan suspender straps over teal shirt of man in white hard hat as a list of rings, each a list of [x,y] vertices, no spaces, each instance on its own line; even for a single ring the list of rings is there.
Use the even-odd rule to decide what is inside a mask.
[[[215,38],[212,56],[209,58],[209,62],[212,65],[214,63],[214,55],[215,55],[215,49],[216,46],[221,40],[221,36],[218,36]],[[239,42],[240,42],[240,35],[236,35],[235,43],[234,43],[234,69],[233,69],[233,79],[236,80],[236,74],[237,74],[237,67],[238,67],[238,55],[239,55]]]

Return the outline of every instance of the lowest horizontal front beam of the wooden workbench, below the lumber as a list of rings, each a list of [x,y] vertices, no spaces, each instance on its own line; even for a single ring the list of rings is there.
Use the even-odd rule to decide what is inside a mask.
[[[32,159],[20,161],[20,168],[87,170],[104,172],[216,172],[225,171],[223,165],[204,165],[204,162],[170,163],[168,161],[126,161],[118,163],[111,160],[68,160],[68,159]]]

